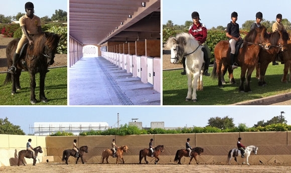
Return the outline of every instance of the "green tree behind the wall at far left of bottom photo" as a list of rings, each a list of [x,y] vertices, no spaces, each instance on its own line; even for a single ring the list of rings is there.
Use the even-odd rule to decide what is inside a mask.
[[[25,135],[25,132],[20,129],[19,125],[13,125],[8,118],[0,118],[0,134],[19,134]]]

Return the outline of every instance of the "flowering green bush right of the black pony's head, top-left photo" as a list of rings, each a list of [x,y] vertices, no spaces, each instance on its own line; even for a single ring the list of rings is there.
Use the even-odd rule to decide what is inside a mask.
[[[57,53],[59,54],[67,54],[67,26],[64,27],[51,27],[48,32],[55,33],[61,36],[59,45],[57,48]]]

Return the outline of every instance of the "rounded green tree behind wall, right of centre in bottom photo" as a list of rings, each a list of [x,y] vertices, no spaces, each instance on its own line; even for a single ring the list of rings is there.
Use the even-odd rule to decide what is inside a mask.
[[[225,116],[223,118],[220,117],[211,117],[208,120],[208,126],[211,127],[217,127],[220,129],[227,129],[227,128],[233,128],[234,127],[234,123],[233,123],[233,118],[229,118],[228,116]]]

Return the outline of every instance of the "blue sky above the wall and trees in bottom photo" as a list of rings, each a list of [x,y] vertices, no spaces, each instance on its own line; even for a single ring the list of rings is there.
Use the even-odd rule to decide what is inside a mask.
[[[109,126],[128,124],[132,118],[138,118],[143,127],[151,127],[153,121],[164,121],[165,127],[204,127],[211,117],[229,116],[237,126],[244,123],[252,127],[260,120],[269,120],[282,114],[288,124],[291,124],[290,106],[195,106],[195,107],[34,107],[34,106],[2,106],[0,118],[8,117],[14,125],[21,126],[26,134],[34,122],[107,122]]]

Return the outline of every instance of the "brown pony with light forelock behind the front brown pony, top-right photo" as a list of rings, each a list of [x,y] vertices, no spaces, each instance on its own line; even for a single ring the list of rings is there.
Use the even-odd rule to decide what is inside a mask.
[[[259,52],[259,63],[256,68],[256,77],[259,79],[258,85],[259,86],[265,86],[265,73],[267,70],[267,67],[270,62],[275,60],[278,53],[280,51],[285,52],[287,51],[287,41],[289,39],[288,33],[286,31],[275,31],[273,33],[270,33],[268,35],[267,40],[271,43],[271,48],[269,50],[261,50]],[[284,55],[284,54],[283,54]],[[287,56],[284,57],[284,59],[289,59]],[[288,62],[285,67],[287,68]],[[288,72],[288,68],[284,68],[285,71]]]

